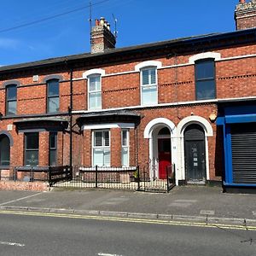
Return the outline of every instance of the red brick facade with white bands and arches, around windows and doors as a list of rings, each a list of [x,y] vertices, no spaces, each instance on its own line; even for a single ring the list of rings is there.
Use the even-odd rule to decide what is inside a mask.
[[[254,24],[255,20],[250,19]],[[248,26],[253,27],[252,24]],[[245,27],[241,26],[239,29],[241,28]],[[107,28],[104,26],[103,30],[105,29]],[[93,166],[92,134],[106,129],[110,131],[110,166],[122,166],[121,132],[126,129],[129,131],[129,166],[147,168],[150,160],[159,157],[159,132],[167,127],[170,134],[164,137],[171,140],[170,163],[176,165],[178,183],[186,181],[188,172],[184,131],[189,125],[195,124],[201,125],[205,132],[206,180],[220,181],[224,177],[223,131],[211,116],[218,115],[218,100],[256,96],[254,34],[255,29],[247,34],[241,31],[190,38],[187,44],[183,44],[181,40],[119,51],[113,49],[106,53],[101,49],[101,55],[85,54],[65,61],[56,59],[54,66],[46,60],[34,63],[33,67],[29,63],[25,66],[1,67],[0,84],[19,81],[15,116],[5,114],[6,87],[3,85],[0,88],[0,112],[3,114],[0,132],[5,132],[0,136],[3,137],[8,132],[13,140],[9,169],[25,164],[26,132],[38,132],[39,166],[49,166],[50,131],[57,132],[57,166],[69,165],[71,160],[73,166]],[[96,44],[95,40],[92,40],[93,44]],[[216,97],[197,101],[195,62],[191,62],[191,57],[202,53],[220,55],[220,58],[215,59]],[[136,67],[140,63],[147,63],[146,61],[159,61],[161,67],[157,68],[157,104],[142,106],[141,72]],[[105,71],[101,78],[102,109],[91,110],[88,109],[88,79],[84,77],[84,73],[97,69]],[[33,82],[35,75],[39,79]],[[50,75],[61,77],[58,113],[47,113],[45,79]],[[120,111],[127,113],[119,114]],[[99,116],[94,118],[96,113]],[[136,115],[140,117],[139,122]],[[40,122],[35,119],[44,120]],[[19,123],[21,120],[23,123]],[[68,127],[64,127],[63,122],[68,123]],[[150,177],[149,172],[151,171],[148,170]]]

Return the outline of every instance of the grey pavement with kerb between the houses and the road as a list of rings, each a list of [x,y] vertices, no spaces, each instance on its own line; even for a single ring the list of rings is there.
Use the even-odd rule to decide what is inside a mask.
[[[219,187],[175,187],[169,194],[119,190],[0,191],[0,210],[65,212],[256,226],[256,195]]]

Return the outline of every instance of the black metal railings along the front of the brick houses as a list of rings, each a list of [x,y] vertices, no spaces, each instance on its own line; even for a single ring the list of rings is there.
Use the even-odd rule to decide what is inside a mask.
[[[49,186],[55,188],[169,192],[175,186],[175,166],[166,166],[166,175],[161,177],[158,168],[158,160],[151,160],[143,167],[16,166],[13,179],[49,182]]]

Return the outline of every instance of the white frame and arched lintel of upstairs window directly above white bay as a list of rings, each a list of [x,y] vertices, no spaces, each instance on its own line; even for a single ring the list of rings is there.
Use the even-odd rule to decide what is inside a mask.
[[[100,77],[100,90],[94,90],[93,93],[100,93],[101,94],[101,106],[98,108],[90,108],[90,78],[93,77]],[[102,77],[105,76],[105,70],[100,68],[90,69],[83,73],[83,78],[87,79],[87,108],[89,110],[93,109],[102,109]]]

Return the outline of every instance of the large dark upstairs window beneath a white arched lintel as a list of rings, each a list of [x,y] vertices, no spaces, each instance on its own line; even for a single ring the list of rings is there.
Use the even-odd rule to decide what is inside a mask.
[[[209,100],[216,97],[215,62],[213,59],[195,61],[196,100]]]

